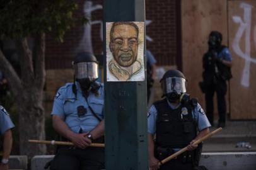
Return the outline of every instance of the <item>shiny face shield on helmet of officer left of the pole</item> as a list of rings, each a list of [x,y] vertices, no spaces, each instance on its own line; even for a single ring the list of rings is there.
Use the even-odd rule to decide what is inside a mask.
[[[98,64],[96,64],[96,62],[78,62],[74,64],[74,74],[76,79],[97,79]]]

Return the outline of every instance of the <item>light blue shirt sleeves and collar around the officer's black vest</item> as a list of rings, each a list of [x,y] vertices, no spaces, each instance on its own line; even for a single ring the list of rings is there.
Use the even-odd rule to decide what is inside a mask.
[[[168,100],[167,100],[168,101]],[[178,106],[173,106],[169,101],[168,105],[172,108],[178,108]],[[151,108],[148,111],[148,133],[154,134],[156,133],[156,116],[157,111],[154,105],[151,106]],[[203,130],[204,128],[211,127],[211,124],[209,123],[209,120],[207,119],[206,114],[204,113],[204,110],[202,110],[199,103],[197,103],[197,108],[195,108],[192,111],[193,118],[197,121],[197,128],[199,131]]]

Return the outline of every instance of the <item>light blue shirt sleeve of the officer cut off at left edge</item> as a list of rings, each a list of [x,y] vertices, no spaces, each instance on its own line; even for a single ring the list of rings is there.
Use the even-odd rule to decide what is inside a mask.
[[[11,122],[8,112],[3,106],[0,105],[0,134],[2,135],[4,132],[13,127],[15,127],[15,125],[13,125],[13,122]]]

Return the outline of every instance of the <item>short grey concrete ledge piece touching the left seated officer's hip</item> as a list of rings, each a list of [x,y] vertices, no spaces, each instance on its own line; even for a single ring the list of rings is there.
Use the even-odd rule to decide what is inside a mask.
[[[45,170],[45,164],[51,161],[54,155],[50,156],[34,156],[31,159],[31,170]],[[48,168],[49,169],[49,168]]]

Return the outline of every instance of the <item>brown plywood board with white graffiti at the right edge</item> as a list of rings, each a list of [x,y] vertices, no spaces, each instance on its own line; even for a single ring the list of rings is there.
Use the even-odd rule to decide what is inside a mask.
[[[231,119],[256,119],[256,1],[228,1]]]

